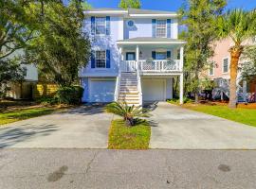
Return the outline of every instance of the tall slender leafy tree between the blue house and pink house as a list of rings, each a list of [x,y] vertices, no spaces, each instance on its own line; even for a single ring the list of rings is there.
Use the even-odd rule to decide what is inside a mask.
[[[180,9],[181,22],[187,28],[183,39],[185,46],[184,70],[188,78],[188,89],[198,102],[200,91],[200,73],[210,64],[213,55],[211,43],[216,39],[215,19],[222,14],[226,0],[189,0]]]

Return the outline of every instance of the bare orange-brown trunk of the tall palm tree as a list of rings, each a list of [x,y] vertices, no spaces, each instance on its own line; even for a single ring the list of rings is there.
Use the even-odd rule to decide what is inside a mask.
[[[236,79],[238,71],[238,61],[242,53],[242,47],[232,47],[230,48],[230,94],[229,94],[229,108],[236,108],[237,94],[236,94]]]

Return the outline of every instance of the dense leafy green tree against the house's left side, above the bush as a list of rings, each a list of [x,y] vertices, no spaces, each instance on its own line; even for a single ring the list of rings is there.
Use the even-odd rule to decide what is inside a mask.
[[[27,61],[34,62],[48,81],[70,86],[88,62],[90,42],[82,31],[84,15],[79,0],[64,6],[59,1],[29,4],[36,20],[36,37],[27,47]]]

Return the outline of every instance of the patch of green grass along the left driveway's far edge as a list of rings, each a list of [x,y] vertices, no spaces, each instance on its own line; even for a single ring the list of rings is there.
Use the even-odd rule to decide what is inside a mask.
[[[54,112],[53,108],[33,108],[25,110],[16,110],[12,112],[0,112],[0,125],[9,124],[12,122],[38,117]]]

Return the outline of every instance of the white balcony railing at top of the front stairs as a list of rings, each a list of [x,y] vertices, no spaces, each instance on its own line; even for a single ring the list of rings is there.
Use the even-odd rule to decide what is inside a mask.
[[[120,63],[121,72],[162,73],[182,71],[180,60],[123,60]]]

